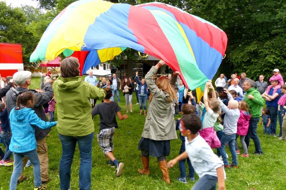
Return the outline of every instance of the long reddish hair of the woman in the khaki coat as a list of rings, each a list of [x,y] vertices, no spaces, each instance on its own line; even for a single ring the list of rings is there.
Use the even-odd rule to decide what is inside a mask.
[[[171,84],[170,84],[169,80],[165,76],[161,76],[160,78],[157,79],[156,86],[160,90],[163,90],[164,92],[166,92],[166,93],[168,93],[170,95],[169,102],[173,102],[174,99],[176,99],[176,101],[178,100],[178,98],[176,96],[176,92],[171,87]],[[153,98],[153,94],[151,92],[150,93],[150,97],[149,97],[149,102],[151,102],[152,98]]]

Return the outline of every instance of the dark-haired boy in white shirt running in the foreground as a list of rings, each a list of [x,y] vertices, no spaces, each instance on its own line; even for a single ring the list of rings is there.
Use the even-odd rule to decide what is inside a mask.
[[[198,182],[191,190],[225,190],[226,178],[223,162],[214,154],[210,146],[199,135],[202,123],[195,114],[183,115],[180,131],[185,136],[186,151],[168,162],[168,167],[173,167],[178,161],[189,157],[195,172],[199,176]]]

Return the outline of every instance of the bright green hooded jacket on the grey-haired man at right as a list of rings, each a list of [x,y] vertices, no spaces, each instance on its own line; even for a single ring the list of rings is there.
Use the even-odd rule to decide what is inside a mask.
[[[259,118],[261,116],[261,106],[264,105],[264,100],[257,90],[257,87],[252,87],[245,91],[244,101],[248,104],[249,113],[251,118]],[[252,100],[248,98],[248,95],[254,96]]]

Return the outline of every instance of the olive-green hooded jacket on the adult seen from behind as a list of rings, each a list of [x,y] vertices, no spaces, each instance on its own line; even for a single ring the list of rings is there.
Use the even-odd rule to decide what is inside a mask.
[[[90,98],[102,100],[106,92],[94,87],[81,77],[59,77],[53,83],[53,92],[58,104],[59,134],[66,136],[85,136],[94,132],[91,117]]]

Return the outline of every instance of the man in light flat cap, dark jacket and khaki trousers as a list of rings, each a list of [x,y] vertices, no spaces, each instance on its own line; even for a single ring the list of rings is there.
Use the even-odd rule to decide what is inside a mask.
[[[34,111],[36,112],[37,116],[43,121],[48,121],[42,105],[47,104],[53,98],[53,81],[47,79],[44,84],[44,93],[37,92],[36,90],[28,89],[29,85],[31,84],[31,75],[32,73],[30,71],[18,71],[13,75],[13,79],[18,87],[10,89],[6,94],[8,115],[10,114],[11,110],[16,106],[18,95],[22,94],[23,92],[31,92],[34,94],[35,97],[35,105],[33,108]],[[40,160],[42,183],[47,183],[50,181],[50,178],[48,176],[48,146],[46,144],[46,136],[50,131],[51,129],[43,130],[35,126],[35,137],[38,145],[37,153]],[[18,178],[18,182],[22,182],[27,179],[27,177],[23,176],[24,166],[26,165],[27,161],[28,159],[24,157],[23,170]]]

